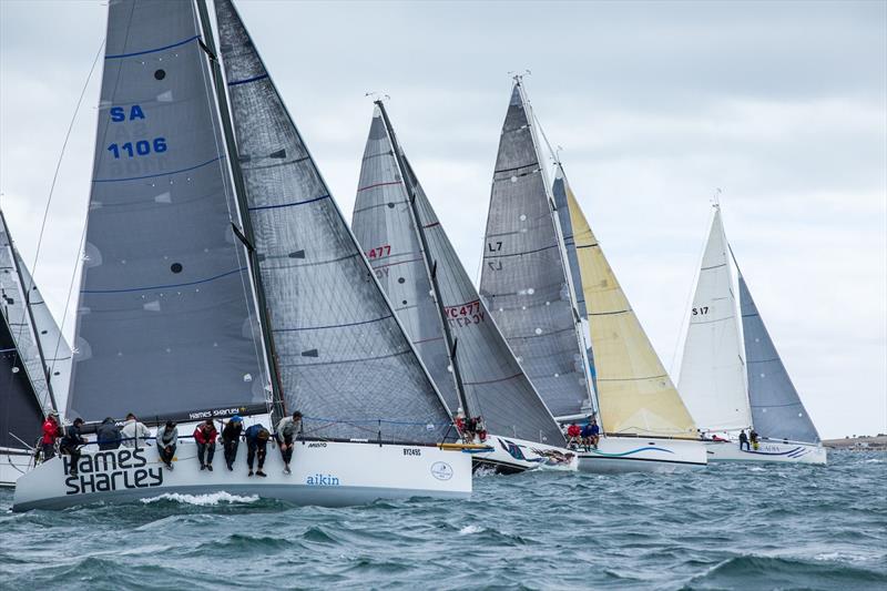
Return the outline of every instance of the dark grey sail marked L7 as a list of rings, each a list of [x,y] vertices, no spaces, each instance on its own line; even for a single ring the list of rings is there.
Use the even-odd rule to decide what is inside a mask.
[[[588,407],[578,319],[546,179],[514,84],[496,160],[480,296],[554,416]]]

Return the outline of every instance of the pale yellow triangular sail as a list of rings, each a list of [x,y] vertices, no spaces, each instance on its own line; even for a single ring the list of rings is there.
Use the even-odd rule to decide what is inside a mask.
[[[604,431],[695,437],[690,412],[631,309],[570,185],[563,181]]]

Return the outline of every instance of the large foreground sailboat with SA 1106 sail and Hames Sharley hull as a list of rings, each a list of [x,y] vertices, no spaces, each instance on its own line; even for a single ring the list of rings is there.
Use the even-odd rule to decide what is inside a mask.
[[[109,7],[68,418],[300,410],[292,473],[273,445],[261,479],[244,445],[234,471],[200,470],[187,437],[174,470],[153,446],[86,446],[77,476],[65,456],[20,478],[13,510],[221,490],[468,497],[439,393],[234,6],[214,6],[218,50],[202,0]]]

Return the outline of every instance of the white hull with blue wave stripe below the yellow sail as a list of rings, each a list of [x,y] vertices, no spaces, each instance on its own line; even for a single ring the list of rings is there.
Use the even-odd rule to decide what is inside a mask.
[[[705,447],[700,441],[655,437],[602,437],[598,449],[579,452],[581,472],[679,472],[704,468]]]

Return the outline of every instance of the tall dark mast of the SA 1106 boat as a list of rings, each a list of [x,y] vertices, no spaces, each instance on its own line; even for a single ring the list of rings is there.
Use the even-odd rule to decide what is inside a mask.
[[[276,424],[286,415],[286,408],[283,397],[283,386],[281,376],[277,370],[277,354],[275,353],[274,339],[271,332],[271,318],[268,315],[268,307],[265,300],[265,288],[262,284],[262,274],[258,267],[258,258],[256,256],[255,240],[253,237],[253,224],[249,220],[249,213],[245,201],[246,187],[243,182],[243,172],[241,171],[241,163],[237,155],[237,143],[234,139],[234,131],[231,126],[231,110],[228,109],[227,94],[225,90],[225,80],[222,75],[222,68],[218,61],[218,53],[215,47],[215,38],[213,37],[213,27],[210,21],[210,13],[206,9],[206,0],[197,0],[197,11],[200,13],[201,28],[203,29],[206,42],[201,42],[201,47],[210,58],[210,64],[213,72],[213,82],[215,84],[215,92],[217,96],[220,119],[222,120],[222,130],[225,136],[225,147],[227,150],[228,162],[231,164],[231,174],[234,179],[234,194],[237,200],[237,210],[241,212],[241,228],[232,223],[232,230],[237,238],[246,247],[249,256],[249,274],[253,277],[253,285],[256,292],[256,307],[258,308],[258,322],[262,332],[262,342],[265,345],[265,357],[268,363],[268,371],[271,374],[271,388],[272,388],[272,422]]]

